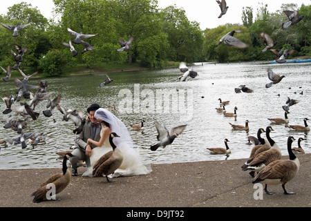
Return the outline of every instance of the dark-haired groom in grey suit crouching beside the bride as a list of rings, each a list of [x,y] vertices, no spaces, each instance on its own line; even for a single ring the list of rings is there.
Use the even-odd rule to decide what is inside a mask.
[[[72,165],[71,175],[77,176],[77,163],[79,160],[86,162],[86,166],[91,166],[90,157],[92,155],[92,149],[95,148],[93,144],[87,144],[88,138],[92,140],[100,140],[100,123],[95,119],[95,111],[100,108],[98,104],[91,104],[88,107],[88,119],[84,124],[83,131],[75,138],[75,149],[72,154],[75,157],[70,157],[70,164]]]

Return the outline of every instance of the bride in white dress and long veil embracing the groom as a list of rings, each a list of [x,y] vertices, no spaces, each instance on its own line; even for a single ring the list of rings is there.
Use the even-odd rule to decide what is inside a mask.
[[[109,143],[109,135],[112,132],[115,132],[120,136],[120,138],[113,139],[113,142],[115,146],[122,151],[124,159],[120,168],[117,169],[111,177],[144,175],[151,172],[150,166],[142,164],[139,149],[134,147],[131,135],[120,119],[104,108],[99,108],[95,112],[95,118],[97,119],[97,122],[102,124],[102,131],[100,133],[101,138],[99,142],[96,142],[90,138],[87,140],[88,144],[92,143],[97,147],[92,150],[90,156],[91,166],[87,168],[83,176],[91,177],[93,173],[93,165],[97,162],[97,160],[99,160],[105,153],[113,150]]]

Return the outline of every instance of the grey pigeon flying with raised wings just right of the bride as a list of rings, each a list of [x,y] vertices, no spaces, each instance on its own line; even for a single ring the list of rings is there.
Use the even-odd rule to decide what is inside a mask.
[[[159,122],[155,121],[156,129],[158,131],[157,140],[158,143],[151,146],[151,151],[156,151],[160,146],[165,146],[173,143],[176,137],[185,130],[187,124],[175,126],[171,128],[171,130],[167,130],[164,124],[160,124]]]

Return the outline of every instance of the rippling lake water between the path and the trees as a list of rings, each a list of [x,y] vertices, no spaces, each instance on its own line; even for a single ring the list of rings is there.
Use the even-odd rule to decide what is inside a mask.
[[[305,153],[311,153],[310,133],[290,131],[284,125],[270,124],[267,119],[284,117],[282,106],[288,97],[299,100],[299,104],[290,107],[290,125],[303,125],[303,118],[311,119],[310,67],[310,63],[198,63],[192,66],[198,72],[198,77],[185,82],[178,81],[181,75],[178,68],[166,68],[109,73],[114,81],[102,88],[99,85],[106,78],[106,73],[43,80],[49,84],[46,90],[54,91],[51,98],[62,95],[60,104],[65,108],[81,109],[86,113],[86,108],[95,102],[101,106],[115,105],[116,110],[112,112],[129,128],[144,164],[166,164],[248,157],[252,146],[247,145],[247,137],[256,136],[258,128],[267,126],[274,128],[271,137],[279,144],[283,155],[288,155],[286,142],[289,135],[293,135],[296,140],[303,137],[305,140],[301,146]],[[279,84],[265,88],[265,84],[270,82],[267,68],[285,75],[285,78]],[[37,81],[29,79],[28,84],[37,85]],[[241,84],[252,88],[254,93],[235,93],[234,88]],[[14,81],[1,81],[0,86],[1,96],[15,95],[17,91]],[[233,112],[234,106],[238,108],[236,119],[216,113],[218,98],[230,101],[226,106],[227,112]],[[35,148],[28,144],[24,149],[21,144],[0,144],[0,169],[60,167],[61,160],[55,153],[73,146],[75,126],[71,121],[62,121],[62,113],[56,108],[52,117],[45,117],[42,113],[45,106],[46,101],[39,103],[35,108],[40,113],[39,118],[35,121],[28,119],[28,128],[23,131],[44,132],[48,136],[46,142]],[[0,106],[2,118],[8,117],[2,114],[4,109],[3,102]],[[131,131],[129,124],[140,124],[142,119],[145,121],[144,132]],[[229,122],[244,125],[246,119],[249,120],[248,132],[232,131]],[[164,122],[169,129],[180,124],[187,124],[187,127],[173,144],[151,151],[150,146],[157,142],[155,120]],[[0,126],[0,140],[15,136],[16,131]],[[232,150],[229,156],[209,153],[207,147],[225,147],[225,138],[229,140],[228,145]],[[296,141],[294,146],[297,146]]]

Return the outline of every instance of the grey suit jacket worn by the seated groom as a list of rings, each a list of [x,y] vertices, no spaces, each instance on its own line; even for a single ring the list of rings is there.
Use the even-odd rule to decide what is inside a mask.
[[[93,127],[91,126],[91,124],[92,124],[91,121],[86,120],[83,131],[75,137],[75,146],[84,152],[85,152],[85,148],[87,145],[86,142],[88,141],[88,138],[93,139]],[[95,135],[94,140],[97,142],[100,141],[100,130],[101,130],[101,127],[96,128],[96,135]],[[90,145],[92,149],[96,147],[94,144],[90,144]]]

